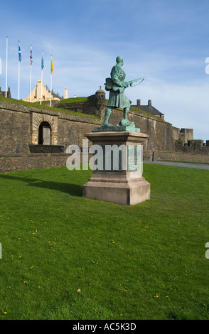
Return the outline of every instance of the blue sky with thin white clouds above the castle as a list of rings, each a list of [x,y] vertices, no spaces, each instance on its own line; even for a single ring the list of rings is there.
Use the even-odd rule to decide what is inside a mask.
[[[6,36],[9,37],[8,85],[18,97],[18,41],[21,42],[20,97],[41,80],[68,97],[104,90],[117,55],[124,58],[127,80],[145,76],[126,95],[136,104],[152,100],[165,120],[194,129],[194,139],[209,140],[208,0],[60,0],[4,1],[0,7],[0,86],[5,90]],[[108,93],[106,94],[108,98]]]

